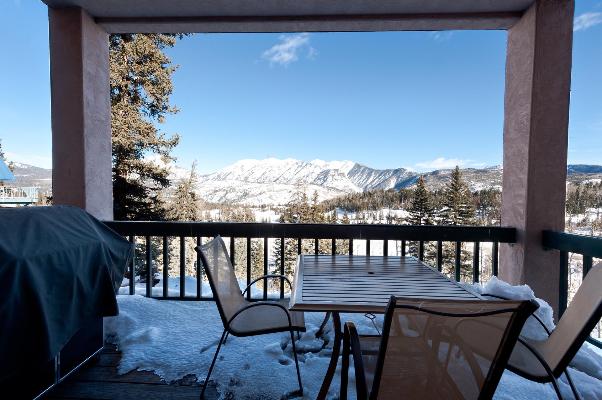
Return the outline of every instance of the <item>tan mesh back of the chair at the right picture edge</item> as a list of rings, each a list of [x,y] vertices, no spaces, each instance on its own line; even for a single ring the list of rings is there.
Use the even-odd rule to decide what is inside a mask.
[[[589,270],[556,329],[538,346],[554,375],[562,374],[602,318],[602,263]]]

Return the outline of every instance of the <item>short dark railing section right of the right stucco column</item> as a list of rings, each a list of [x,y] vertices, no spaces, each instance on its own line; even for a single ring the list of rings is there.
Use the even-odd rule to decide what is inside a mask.
[[[582,278],[588,274],[593,266],[594,258],[602,259],[602,238],[596,236],[579,235],[577,233],[544,230],[541,245],[545,249],[560,250],[560,288],[559,288],[559,318],[568,307],[569,293],[569,253],[580,254],[583,257]],[[588,342],[602,348],[602,342],[588,337]]]

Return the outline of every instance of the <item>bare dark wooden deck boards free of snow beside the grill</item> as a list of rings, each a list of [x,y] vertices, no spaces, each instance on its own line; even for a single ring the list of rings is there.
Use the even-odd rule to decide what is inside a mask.
[[[107,343],[96,363],[88,362],[54,387],[42,400],[54,399],[199,399],[202,386],[195,377],[187,377],[176,384],[166,384],[152,371],[131,371],[117,375],[121,352]],[[201,383],[202,385],[202,383]],[[205,390],[205,399],[217,400],[219,393],[213,387]]]

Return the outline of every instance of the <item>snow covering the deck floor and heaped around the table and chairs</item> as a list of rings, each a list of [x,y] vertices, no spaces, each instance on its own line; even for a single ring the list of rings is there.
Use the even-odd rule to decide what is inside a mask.
[[[179,282],[179,278],[175,278]],[[244,288],[244,282],[241,283]],[[196,286],[193,286],[196,287]],[[172,290],[170,278],[170,291]],[[491,292],[510,298],[535,298],[529,286],[510,286],[492,277],[485,286],[474,285],[477,292]],[[188,289],[188,288],[187,288]],[[204,288],[203,288],[204,289]],[[163,289],[161,289],[163,290]],[[188,290],[187,290],[188,292]],[[203,290],[203,295],[205,292]],[[553,328],[550,306],[541,304],[538,315]],[[118,296],[120,314],[105,318],[107,339],[117,343],[122,351],[119,374],[132,369],[154,371],[167,382],[176,382],[186,375],[196,375],[202,382],[211,365],[223,325],[214,303],[206,301],[158,301],[143,296]],[[157,316],[164,316],[157,318]],[[303,399],[314,399],[320,389],[332,354],[332,325],[326,333],[316,336],[323,321],[323,313],[305,313],[307,331],[296,340]],[[382,329],[382,315],[375,323]],[[372,322],[361,314],[341,314],[341,321],[353,321],[360,334],[376,334]],[[524,333],[541,337],[541,327],[526,326]],[[583,399],[602,399],[602,355],[589,345],[583,346],[569,368]],[[341,359],[329,397],[336,398],[340,389]],[[211,379],[217,384],[221,398],[280,399],[298,390],[297,375],[290,334],[276,333],[255,337],[229,336],[220,349]],[[560,379],[566,398],[573,398]],[[355,398],[355,374],[349,370],[349,399]],[[495,393],[495,400],[556,399],[549,384],[527,381],[505,371]]]

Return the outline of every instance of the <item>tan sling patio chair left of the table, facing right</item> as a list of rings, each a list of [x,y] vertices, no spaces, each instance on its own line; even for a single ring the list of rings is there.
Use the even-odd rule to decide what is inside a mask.
[[[264,275],[253,280],[245,291],[241,293],[238,280],[234,274],[234,268],[226,251],[226,244],[220,236],[202,246],[196,247],[195,250],[200,254],[203,268],[209,280],[209,286],[211,286],[211,291],[213,291],[217,309],[224,325],[222,338],[217,345],[216,355],[213,357],[213,362],[209,367],[200,397],[203,398],[211,371],[213,371],[213,366],[217,360],[217,354],[220,352],[222,344],[225,343],[227,334],[232,334],[232,336],[256,336],[276,332],[291,333],[293,355],[295,365],[297,366],[297,378],[299,379],[299,390],[303,393],[299,361],[297,360],[297,349],[293,336],[293,331],[297,331],[297,333],[299,331],[305,332],[303,313],[288,311],[288,299],[250,302],[244,298],[244,292],[258,280],[266,279],[267,284],[268,277],[279,277],[287,280],[289,285],[291,284],[290,280],[284,275]]]

